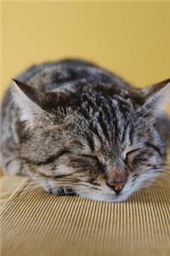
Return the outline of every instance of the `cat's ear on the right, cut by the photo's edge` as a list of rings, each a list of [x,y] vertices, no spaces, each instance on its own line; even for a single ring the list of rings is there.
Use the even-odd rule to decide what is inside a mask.
[[[143,113],[163,112],[167,108],[167,104],[170,103],[170,79],[144,88],[141,90],[141,94],[144,98]]]

